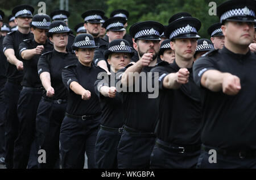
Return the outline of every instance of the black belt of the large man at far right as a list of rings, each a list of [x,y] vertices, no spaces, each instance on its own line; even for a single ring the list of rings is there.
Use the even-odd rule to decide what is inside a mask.
[[[217,154],[221,154],[223,156],[240,157],[241,159],[244,159],[246,157],[256,157],[256,149],[226,150],[226,149],[217,149],[217,148],[213,148],[205,145],[202,145],[201,149],[208,153],[209,153],[209,150],[216,150]]]

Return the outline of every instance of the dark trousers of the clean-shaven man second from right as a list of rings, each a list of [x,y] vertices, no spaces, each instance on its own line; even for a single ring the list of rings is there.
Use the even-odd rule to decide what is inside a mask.
[[[157,140],[158,141],[158,140]],[[154,146],[151,153],[150,168],[152,169],[195,169],[200,150],[195,152],[171,152],[170,150]]]

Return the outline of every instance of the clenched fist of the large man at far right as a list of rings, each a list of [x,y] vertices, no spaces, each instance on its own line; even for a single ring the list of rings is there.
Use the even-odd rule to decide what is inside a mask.
[[[224,94],[236,95],[241,90],[240,78],[227,74],[222,81],[222,91]]]

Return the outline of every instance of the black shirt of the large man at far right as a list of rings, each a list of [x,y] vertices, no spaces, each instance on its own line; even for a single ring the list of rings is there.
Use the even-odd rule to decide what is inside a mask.
[[[237,95],[214,93],[204,87],[202,143],[222,149],[256,149],[256,55],[235,54],[226,47],[213,50],[193,65],[198,86],[203,73],[214,69],[240,78]]]

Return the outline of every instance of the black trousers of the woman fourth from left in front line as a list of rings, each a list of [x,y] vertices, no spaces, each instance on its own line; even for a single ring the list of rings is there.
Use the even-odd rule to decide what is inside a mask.
[[[84,168],[85,152],[88,157],[88,169],[96,168],[95,143],[99,126],[100,115],[91,120],[65,116],[60,130],[62,168]]]

